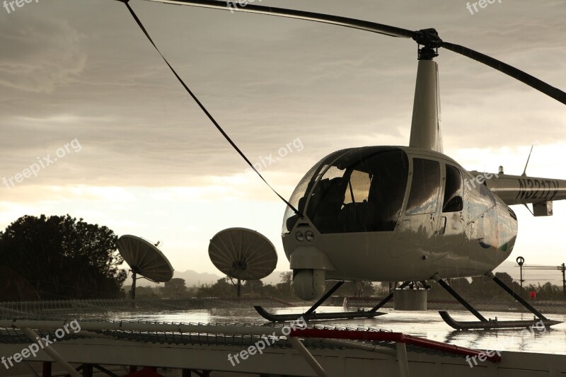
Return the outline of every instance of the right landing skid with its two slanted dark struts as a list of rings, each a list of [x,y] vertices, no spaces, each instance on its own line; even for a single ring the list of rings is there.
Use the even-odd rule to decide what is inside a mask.
[[[447,311],[439,311],[441,318],[444,320],[444,322],[446,322],[447,325],[455,328],[456,330],[479,330],[479,329],[495,330],[495,329],[517,329],[517,328],[526,328],[526,327],[532,328],[536,326],[538,327],[538,325],[541,325],[541,323],[545,327],[550,327],[562,323],[557,320],[549,320],[548,318],[546,318],[539,311],[533,308],[528,302],[526,302],[521,296],[519,296],[511,288],[509,288],[509,286],[505,285],[504,282],[499,280],[492,272],[487,273],[486,276],[490,277],[490,279],[492,279],[495,283],[497,283],[497,285],[502,287],[504,291],[506,291],[508,294],[513,296],[513,298],[515,298],[516,301],[519,301],[521,305],[523,305],[525,308],[531,311],[531,313],[535,315],[535,318],[533,320],[497,320],[497,319],[487,320],[483,315],[480,314],[480,312],[475,310],[475,308],[473,308],[473,306],[471,306],[470,303],[468,303],[460,295],[458,295],[456,291],[454,291],[454,289],[451,288],[451,286],[446,284],[446,282],[444,282],[442,279],[440,279],[440,277],[438,277],[438,275],[436,275],[434,279],[438,282],[438,284],[440,284],[442,288],[446,289],[446,291],[448,291],[449,294],[454,296],[454,298],[456,298],[456,300],[458,300],[464,307],[466,307],[466,309],[468,309],[470,313],[472,313],[473,315],[475,315],[476,318],[478,318],[477,321],[458,322],[457,320],[454,320],[454,318],[452,318]]]

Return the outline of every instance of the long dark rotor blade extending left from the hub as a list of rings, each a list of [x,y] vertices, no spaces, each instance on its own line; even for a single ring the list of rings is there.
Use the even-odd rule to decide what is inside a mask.
[[[231,12],[237,11],[237,12],[247,12],[247,13],[260,13],[271,16],[296,18],[299,20],[316,21],[320,23],[330,23],[333,25],[345,26],[347,28],[354,28],[359,30],[371,31],[372,33],[389,35],[390,37],[415,38],[418,35],[417,32],[412,30],[396,28],[395,26],[383,25],[381,23],[361,21],[355,18],[331,16],[329,14],[323,14],[323,13],[296,11],[294,9],[273,8],[272,6],[260,6],[253,4],[246,4],[244,6],[238,4],[238,1],[218,1],[218,0],[146,0],[146,1],[154,1],[156,3],[164,3],[164,4],[199,6],[201,8],[224,9],[224,11],[231,11]]]

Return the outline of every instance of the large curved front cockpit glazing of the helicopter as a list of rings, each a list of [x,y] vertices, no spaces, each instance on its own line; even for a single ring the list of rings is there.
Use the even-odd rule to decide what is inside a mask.
[[[408,171],[403,149],[342,149],[306,173],[290,203],[320,233],[393,231],[403,206]],[[298,220],[299,215],[287,208],[283,233],[289,233]]]

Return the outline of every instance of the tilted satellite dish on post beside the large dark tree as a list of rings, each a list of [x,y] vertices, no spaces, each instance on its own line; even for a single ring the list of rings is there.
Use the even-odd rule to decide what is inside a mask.
[[[132,298],[136,298],[136,279],[141,275],[150,282],[163,283],[173,278],[173,267],[161,250],[148,240],[125,234],[118,238],[118,251],[132,269]]]

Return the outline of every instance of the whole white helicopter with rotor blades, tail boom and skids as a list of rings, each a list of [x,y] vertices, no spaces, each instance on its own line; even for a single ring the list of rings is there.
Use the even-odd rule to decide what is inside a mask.
[[[128,0],[118,1],[126,4],[151,41]],[[282,239],[293,270],[296,295],[304,300],[317,298],[323,295],[327,280],[337,281],[303,313],[305,318],[371,318],[381,314],[377,310],[393,296],[388,296],[371,311],[315,313],[344,281],[404,282],[402,289],[416,282],[426,286],[427,280],[435,280],[479,319],[456,322],[448,313],[441,312],[444,320],[457,329],[527,327],[536,320],[543,320],[545,325],[558,323],[526,303],[497,279],[492,270],[506,260],[514,248],[517,218],[509,206],[530,203],[534,216],[551,216],[553,201],[566,199],[566,180],[532,178],[526,173],[507,175],[502,168],[495,174],[467,171],[446,156],[439,122],[438,66],[433,59],[438,56],[438,49],[444,48],[487,64],[564,104],[566,93],[497,59],[444,42],[434,29],[412,31],[247,2],[241,6],[241,2],[216,0],[148,1],[299,18],[412,38],[417,42],[417,83],[409,146],[366,146],[335,151],[308,170],[288,202],[276,192],[287,203]],[[163,59],[167,62],[165,57]],[[253,168],[171,64],[167,64]],[[481,275],[494,279],[538,319],[487,320],[443,280]],[[260,307],[256,309],[269,320],[296,319],[296,315],[274,315]]]

